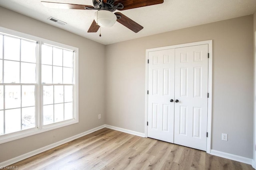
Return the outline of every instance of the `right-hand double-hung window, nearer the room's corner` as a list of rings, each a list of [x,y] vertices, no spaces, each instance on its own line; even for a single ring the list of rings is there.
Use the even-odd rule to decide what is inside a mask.
[[[42,45],[43,125],[74,117],[73,55],[67,49]]]

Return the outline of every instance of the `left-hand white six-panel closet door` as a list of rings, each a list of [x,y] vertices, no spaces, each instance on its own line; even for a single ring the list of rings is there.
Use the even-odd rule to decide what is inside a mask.
[[[148,137],[173,143],[175,50],[149,53]]]

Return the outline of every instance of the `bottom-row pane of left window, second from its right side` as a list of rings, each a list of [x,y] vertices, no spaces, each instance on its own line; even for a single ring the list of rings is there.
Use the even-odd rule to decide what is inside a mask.
[[[20,131],[21,119],[20,109],[5,111],[5,133]]]

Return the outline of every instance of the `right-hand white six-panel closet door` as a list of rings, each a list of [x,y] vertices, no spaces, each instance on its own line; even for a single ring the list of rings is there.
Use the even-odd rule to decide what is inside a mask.
[[[206,150],[208,45],[175,49],[174,143]]]

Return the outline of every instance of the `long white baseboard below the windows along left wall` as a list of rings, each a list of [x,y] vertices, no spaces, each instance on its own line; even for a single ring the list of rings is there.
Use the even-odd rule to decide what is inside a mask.
[[[21,161],[21,160],[24,160],[24,159],[29,158],[29,157],[31,157],[31,156],[34,156],[34,155],[36,155],[36,154],[40,154],[40,153],[42,153],[42,152],[44,152],[44,151],[46,151],[46,150],[49,150],[49,149],[58,147],[58,146],[60,146],[60,145],[62,145],[62,144],[64,144],[64,143],[73,141],[73,140],[75,140],[75,139],[78,139],[78,138],[80,138],[80,137],[83,137],[83,136],[85,136],[85,135],[88,135],[88,134],[90,134],[90,133],[92,133],[92,132],[95,132],[95,131],[98,131],[98,130],[100,130],[100,129],[103,129],[104,127],[106,127],[106,126],[105,126],[105,125],[101,125],[101,126],[96,127],[96,128],[94,128],[94,129],[90,129],[90,130],[88,130],[88,131],[86,131],[86,132],[83,132],[83,133],[80,133],[80,134],[78,134],[78,135],[74,135],[74,136],[72,136],[72,137],[69,137],[69,138],[67,138],[67,139],[64,139],[64,140],[62,140],[62,141],[58,141],[58,142],[53,143],[53,144],[50,144],[50,145],[48,145],[48,146],[45,146],[45,147],[42,147],[42,148],[33,150],[33,151],[31,151],[31,152],[22,154],[22,155],[20,155],[20,156],[17,156],[17,157],[15,157],[15,158],[12,158],[12,159],[6,160],[6,161],[0,163],[0,167],[9,166],[9,165],[11,165],[11,164],[14,164],[14,163],[16,163],[16,162],[19,162],[19,161]]]

